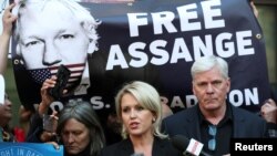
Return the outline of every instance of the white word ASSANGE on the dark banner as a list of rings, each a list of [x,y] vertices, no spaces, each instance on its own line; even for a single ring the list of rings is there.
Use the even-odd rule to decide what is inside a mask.
[[[193,42],[193,53],[189,52],[186,41],[184,38],[177,38],[174,41],[172,52],[167,52],[166,49],[168,42],[165,40],[155,40],[150,43],[150,54],[147,50],[147,44],[144,42],[134,42],[129,46],[129,54],[131,61],[127,62],[121,46],[119,44],[111,45],[106,71],[113,70],[115,66],[121,69],[132,67],[143,67],[147,63],[154,65],[164,65],[166,63],[174,64],[178,61],[192,62],[202,58],[202,55],[217,54],[222,58],[230,58],[235,55],[237,45],[238,55],[252,55],[255,54],[254,48],[249,38],[253,33],[250,30],[238,31],[234,39],[232,33],[223,32],[215,37],[215,48],[213,46],[212,34],[206,34],[204,41],[201,37],[192,37]]]

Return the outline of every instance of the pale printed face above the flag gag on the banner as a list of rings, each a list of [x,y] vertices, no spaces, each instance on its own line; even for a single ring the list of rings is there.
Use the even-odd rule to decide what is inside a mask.
[[[30,10],[20,18],[19,46],[28,70],[85,63],[89,38],[81,24],[65,8],[51,11]]]

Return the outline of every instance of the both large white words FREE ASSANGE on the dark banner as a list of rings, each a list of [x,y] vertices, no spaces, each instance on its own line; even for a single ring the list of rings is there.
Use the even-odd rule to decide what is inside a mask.
[[[176,14],[175,14],[176,13]],[[176,7],[176,11],[133,12],[126,14],[130,28],[130,38],[138,40],[142,29],[153,25],[154,35],[183,33],[191,31],[205,31],[218,29],[218,33],[175,37],[175,40],[156,39],[150,42],[134,41],[127,50],[120,44],[110,46],[105,70],[114,67],[144,67],[147,64],[165,65],[192,62],[203,55],[217,54],[220,58],[255,54],[252,30],[224,32],[225,19],[222,13],[222,1],[202,1]],[[179,22],[174,22],[177,19]],[[151,21],[151,22],[150,22]],[[179,25],[174,25],[179,23]],[[174,38],[174,37],[173,37]],[[189,39],[191,38],[191,39]],[[130,55],[126,59],[126,55]],[[127,61],[130,60],[130,61]]]

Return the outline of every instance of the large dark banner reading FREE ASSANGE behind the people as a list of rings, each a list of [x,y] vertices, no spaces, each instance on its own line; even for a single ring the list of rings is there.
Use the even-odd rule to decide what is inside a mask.
[[[82,42],[81,37],[75,40],[75,33],[69,32],[78,29],[74,27],[78,20],[58,20],[59,15],[66,14],[66,11],[61,13],[61,9],[59,12],[53,8],[49,14],[41,13],[44,17],[21,27],[21,20],[18,20],[19,30],[28,28],[22,35],[27,38],[29,32],[34,33],[25,40],[20,38],[20,32],[13,38],[14,76],[24,106],[40,103],[42,82],[55,74],[63,62],[75,73],[71,75],[69,89],[73,91],[66,100],[89,101],[101,116],[114,112],[117,90],[134,80],[154,85],[162,101],[177,112],[197,103],[192,92],[191,66],[195,60],[212,54],[228,62],[230,92],[227,100],[233,105],[258,112],[260,104],[270,95],[264,34],[248,0],[80,4],[90,11],[94,21],[81,22],[82,28],[86,28],[83,31],[90,38],[89,43]],[[47,8],[48,4],[43,9]],[[38,23],[39,20],[43,24]],[[58,28],[61,28],[55,31],[58,34],[50,37],[50,30]],[[50,41],[52,38],[54,41]],[[57,45],[58,42],[63,48]],[[84,50],[75,48],[78,44],[86,48],[85,55],[81,52]],[[49,51],[55,53],[50,54]],[[73,61],[66,64],[69,60]]]

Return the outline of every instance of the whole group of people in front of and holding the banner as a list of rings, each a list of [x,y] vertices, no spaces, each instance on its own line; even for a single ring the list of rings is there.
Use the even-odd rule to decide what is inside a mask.
[[[10,4],[2,18],[0,74],[7,69],[12,24],[18,19],[11,13],[14,6]],[[273,98],[261,105],[260,116],[226,101],[232,77],[224,59],[214,55],[199,59],[193,63],[191,75],[198,104],[175,114],[166,104],[161,104],[160,94],[151,84],[125,83],[115,96],[116,114],[111,117],[116,118],[116,125],[111,126],[122,138],[112,145],[106,144],[103,126],[89,102],[71,100],[62,110],[50,108],[54,98],[49,90],[55,86],[57,77],[47,79],[35,111],[21,108],[22,118],[31,118],[25,142],[48,143],[54,148],[63,145],[65,156],[182,156],[183,152],[171,144],[171,137],[184,135],[203,143],[211,155],[219,156],[230,153],[233,137],[277,137],[277,105]],[[17,142],[9,132],[11,107],[12,102],[6,94],[4,103],[0,104],[0,142]]]

